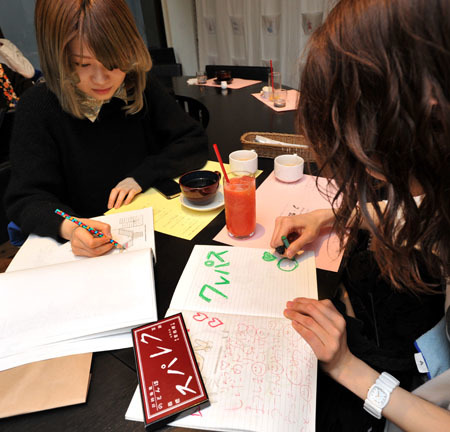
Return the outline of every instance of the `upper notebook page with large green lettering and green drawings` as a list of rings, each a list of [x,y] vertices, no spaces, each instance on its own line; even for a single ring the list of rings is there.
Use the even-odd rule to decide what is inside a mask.
[[[317,298],[313,252],[292,261],[267,249],[196,245],[170,308],[281,318],[296,297]]]

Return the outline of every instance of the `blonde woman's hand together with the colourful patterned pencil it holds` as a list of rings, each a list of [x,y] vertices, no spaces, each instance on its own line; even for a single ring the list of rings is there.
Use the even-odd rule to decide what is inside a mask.
[[[93,219],[74,218],[58,209],[55,213],[64,218],[60,235],[70,240],[75,255],[94,257],[104,255],[113,247],[123,249],[122,245],[111,238],[111,227],[108,224]]]

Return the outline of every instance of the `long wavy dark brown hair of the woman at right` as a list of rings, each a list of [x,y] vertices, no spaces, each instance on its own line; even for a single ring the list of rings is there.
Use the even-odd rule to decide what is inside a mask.
[[[300,87],[300,131],[342,200],[341,245],[365,221],[394,286],[432,291],[419,257],[450,274],[450,2],[340,1],[311,37]]]

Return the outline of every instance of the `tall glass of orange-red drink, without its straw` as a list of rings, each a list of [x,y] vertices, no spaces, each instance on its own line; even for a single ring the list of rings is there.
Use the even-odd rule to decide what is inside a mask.
[[[228,173],[224,179],[225,219],[231,237],[251,237],[256,227],[255,178],[247,172]]]

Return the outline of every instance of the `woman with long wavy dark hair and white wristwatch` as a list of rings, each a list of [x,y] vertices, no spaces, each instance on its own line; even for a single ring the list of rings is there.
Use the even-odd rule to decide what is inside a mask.
[[[370,250],[360,250],[359,260],[350,262],[363,287],[351,277],[346,284],[356,319],[344,319],[340,312],[349,315],[349,308],[334,301],[338,312],[329,300],[295,299],[284,312],[323,370],[356,395],[335,388],[327,399],[328,413],[318,408],[321,431],[380,430],[382,422],[370,422],[369,413],[403,430],[450,430],[447,410],[376,372],[400,370],[399,358],[389,353],[404,347],[413,364],[420,326],[428,326],[424,331],[433,327],[445,310],[450,275],[449,17],[447,0],[341,0],[309,43],[299,126],[322,173],[338,185],[330,200],[342,204],[279,218],[272,246],[278,246],[281,235],[296,231],[300,236],[287,250],[293,256],[324,227],[334,227],[343,240],[350,233],[350,242],[361,229],[371,236]],[[381,202],[380,185],[387,198]],[[365,287],[373,288],[371,305]],[[361,318],[359,312],[367,315]],[[360,329],[355,341],[355,328],[363,324],[370,331]],[[377,328],[384,332],[372,333]],[[385,349],[383,338],[398,346]],[[434,380],[430,383],[441,384],[441,403],[447,407],[449,371]],[[352,410],[345,418],[342,401],[351,397]],[[363,404],[357,398],[365,400],[367,417],[360,414]]]

